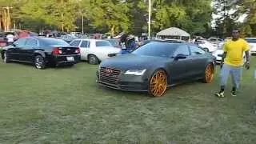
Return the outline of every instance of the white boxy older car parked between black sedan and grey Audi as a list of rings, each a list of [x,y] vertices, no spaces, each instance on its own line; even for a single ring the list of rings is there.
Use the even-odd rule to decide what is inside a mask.
[[[112,46],[109,41],[100,39],[75,39],[70,42],[70,45],[78,46],[81,60],[86,60],[93,65],[121,53],[120,48]]]

